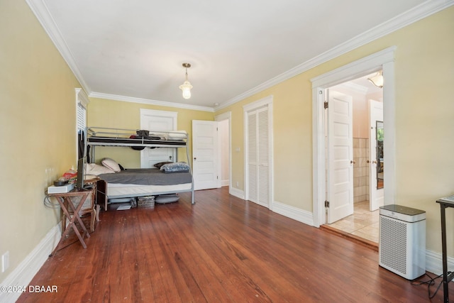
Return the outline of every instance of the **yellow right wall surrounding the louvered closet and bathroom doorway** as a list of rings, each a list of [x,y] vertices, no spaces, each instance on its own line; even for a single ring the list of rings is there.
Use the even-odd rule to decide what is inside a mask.
[[[441,252],[436,199],[454,194],[454,7],[217,111],[232,113],[233,184],[243,184],[243,105],[273,95],[275,201],[312,211],[313,77],[397,46],[395,202],[427,212],[427,248]],[[385,77],[386,80],[386,77]],[[385,106],[386,106],[386,100]],[[243,148],[242,148],[243,150]],[[385,185],[386,188],[386,185]],[[386,202],[385,202],[386,203]],[[454,231],[454,210],[448,211]],[[453,255],[454,233],[448,252]]]

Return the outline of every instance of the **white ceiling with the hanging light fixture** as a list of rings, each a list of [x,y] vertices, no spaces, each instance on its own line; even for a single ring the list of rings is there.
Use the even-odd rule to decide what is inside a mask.
[[[445,2],[26,1],[90,97],[204,110],[293,77]],[[188,100],[178,88],[184,62],[192,65]]]

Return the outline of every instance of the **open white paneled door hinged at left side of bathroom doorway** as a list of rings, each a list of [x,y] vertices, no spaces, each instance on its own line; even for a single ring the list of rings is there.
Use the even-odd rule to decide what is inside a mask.
[[[328,94],[327,223],[353,214],[353,97]]]

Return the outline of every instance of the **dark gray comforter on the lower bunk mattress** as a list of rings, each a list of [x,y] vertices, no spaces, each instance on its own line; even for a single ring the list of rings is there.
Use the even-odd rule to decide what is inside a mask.
[[[192,182],[190,172],[164,173],[156,168],[122,170],[114,174],[101,174],[102,180],[108,183],[140,185],[172,185]]]

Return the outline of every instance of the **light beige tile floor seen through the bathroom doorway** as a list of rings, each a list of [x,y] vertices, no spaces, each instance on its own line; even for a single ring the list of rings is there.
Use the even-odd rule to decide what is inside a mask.
[[[369,201],[363,201],[354,204],[352,215],[328,224],[328,226],[378,243],[379,219],[379,210],[369,211]]]

